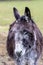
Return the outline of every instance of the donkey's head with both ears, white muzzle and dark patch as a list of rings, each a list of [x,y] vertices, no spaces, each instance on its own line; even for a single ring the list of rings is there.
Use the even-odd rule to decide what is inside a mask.
[[[15,25],[11,28],[13,32],[13,40],[15,44],[14,48],[14,54],[17,58],[21,57],[22,55],[25,55],[25,52],[27,49],[31,49],[31,47],[34,45],[34,34],[33,34],[33,28],[32,23],[30,24],[31,16],[29,9],[28,12],[25,9],[25,15],[21,16],[18,14],[18,11],[16,8],[14,10],[14,15],[16,18]]]

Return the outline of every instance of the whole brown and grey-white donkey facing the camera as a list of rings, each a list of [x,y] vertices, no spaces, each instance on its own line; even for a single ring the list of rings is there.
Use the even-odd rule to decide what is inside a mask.
[[[24,15],[13,8],[16,20],[10,25],[7,51],[17,65],[36,65],[42,52],[42,34],[32,20],[31,12],[25,7]]]

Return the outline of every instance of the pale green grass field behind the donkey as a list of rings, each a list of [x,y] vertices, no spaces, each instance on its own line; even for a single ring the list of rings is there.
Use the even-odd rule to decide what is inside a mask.
[[[25,7],[31,10],[31,15],[35,23],[43,33],[43,1],[3,1],[0,2],[0,26],[8,26],[14,20],[13,7],[19,10],[20,15],[24,14]],[[8,29],[5,29],[6,31]]]

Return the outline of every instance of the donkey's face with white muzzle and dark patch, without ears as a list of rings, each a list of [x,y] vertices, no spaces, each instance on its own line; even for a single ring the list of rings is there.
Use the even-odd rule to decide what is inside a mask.
[[[21,57],[27,49],[31,49],[34,45],[34,35],[23,24],[15,24],[13,31],[15,41],[14,54],[17,57]]]

